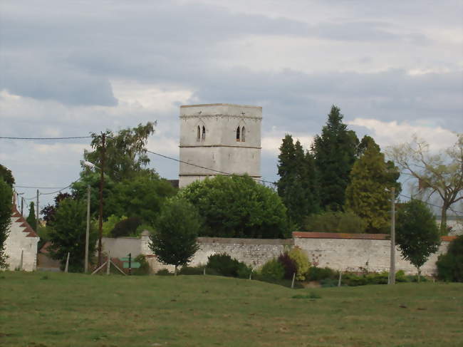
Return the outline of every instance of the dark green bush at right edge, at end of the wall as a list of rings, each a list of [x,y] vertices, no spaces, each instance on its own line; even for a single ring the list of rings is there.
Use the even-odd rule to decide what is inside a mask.
[[[436,264],[437,278],[463,282],[463,235],[450,242],[447,254],[439,255]]]

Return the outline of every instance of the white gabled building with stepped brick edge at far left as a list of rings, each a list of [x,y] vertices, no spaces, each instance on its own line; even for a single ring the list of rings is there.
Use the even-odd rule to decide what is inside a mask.
[[[10,232],[5,242],[6,264],[10,270],[37,269],[37,244],[40,238],[13,204]]]

